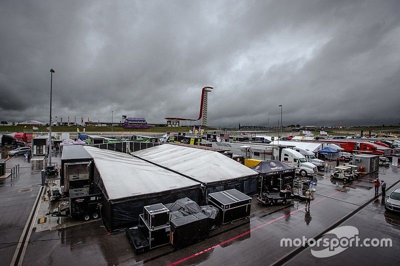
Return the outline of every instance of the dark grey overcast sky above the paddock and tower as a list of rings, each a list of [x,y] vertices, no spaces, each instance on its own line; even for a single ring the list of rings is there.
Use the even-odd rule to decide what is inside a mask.
[[[0,120],[398,125],[400,1],[1,1]]]

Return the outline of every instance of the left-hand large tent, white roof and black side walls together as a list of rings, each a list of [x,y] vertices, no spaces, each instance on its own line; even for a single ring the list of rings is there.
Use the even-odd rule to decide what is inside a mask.
[[[137,224],[143,206],[202,198],[201,184],[187,177],[125,153],[81,147],[93,157],[93,181],[104,195],[101,214],[109,230]]]

